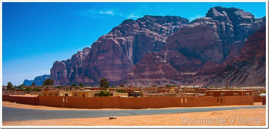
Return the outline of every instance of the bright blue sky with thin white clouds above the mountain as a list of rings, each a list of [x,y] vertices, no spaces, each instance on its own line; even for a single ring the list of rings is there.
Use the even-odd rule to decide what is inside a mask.
[[[90,47],[125,19],[170,15],[191,21],[215,6],[266,15],[266,2],[3,2],[1,85],[50,74],[56,60]]]

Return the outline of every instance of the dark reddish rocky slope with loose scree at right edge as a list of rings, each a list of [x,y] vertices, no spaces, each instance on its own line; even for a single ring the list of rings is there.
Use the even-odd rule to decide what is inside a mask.
[[[265,86],[266,27],[247,38],[246,45],[243,46],[239,56],[222,64],[210,64],[209,66],[211,69],[204,69],[192,78],[197,81],[192,84],[224,86],[228,83],[229,86]]]

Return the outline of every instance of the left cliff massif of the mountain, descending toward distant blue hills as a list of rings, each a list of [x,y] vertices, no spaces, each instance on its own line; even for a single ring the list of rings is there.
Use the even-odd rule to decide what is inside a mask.
[[[56,84],[59,80],[62,84],[84,82],[94,85],[105,77],[113,84],[125,79],[133,64],[146,52],[164,51],[168,35],[188,23],[188,19],[177,16],[145,15],[137,20],[124,20],[91,45],[87,57],[83,56],[86,57],[83,64],[73,57],[55,62],[55,67],[62,69],[52,67],[52,78]]]

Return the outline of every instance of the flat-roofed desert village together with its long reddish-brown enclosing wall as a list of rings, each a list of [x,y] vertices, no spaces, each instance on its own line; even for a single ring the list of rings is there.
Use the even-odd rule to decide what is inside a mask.
[[[33,87],[27,87],[33,88]],[[65,108],[119,108],[147,109],[164,107],[197,107],[223,105],[266,104],[262,94],[266,88],[199,88],[189,87],[38,87],[39,92],[7,91],[2,87],[2,101],[27,105],[41,105]],[[123,92],[117,92],[117,90]],[[110,96],[100,97],[101,91]],[[25,95],[25,96],[24,96]]]

